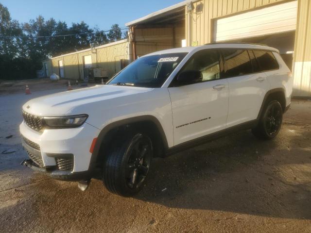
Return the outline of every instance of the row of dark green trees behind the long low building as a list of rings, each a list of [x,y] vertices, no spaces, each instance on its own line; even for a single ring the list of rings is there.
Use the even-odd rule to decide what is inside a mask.
[[[0,79],[34,78],[42,60],[120,40],[121,29],[112,25],[108,34],[81,21],[66,22],[38,16],[27,23],[12,20],[0,3]],[[127,33],[123,33],[127,37]]]

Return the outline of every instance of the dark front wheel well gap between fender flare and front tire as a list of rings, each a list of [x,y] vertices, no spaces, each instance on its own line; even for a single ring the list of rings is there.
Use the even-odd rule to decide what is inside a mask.
[[[128,131],[138,131],[147,134],[153,144],[154,157],[163,157],[166,141],[165,138],[163,138],[163,131],[161,132],[158,127],[159,126],[152,120],[142,120],[124,123],[110,128],[109,131],[104,134],[103,139],[97,142],[100,143],[100,148],[97,153],[96,164],[98,166],[103,165],[109,146],[112,145],[114,140],[119,140],[119,138],[121,138],[120,135],[124,135],[124,133]]]

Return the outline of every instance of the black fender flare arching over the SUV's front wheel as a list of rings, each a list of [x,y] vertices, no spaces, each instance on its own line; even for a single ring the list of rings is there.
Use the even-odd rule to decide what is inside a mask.
[[[152,116],[152,115],[134,116],[134,117],[118,120],[118,121],[115,121],[115,122],[112,122],[112,123],[106,125],[101,130],[101,132],[99,133],[99,135],[97,137],[97,140],[96,140],[96,144],[95,144],[94,150],[93,150],[92,155],[91,155],[91,160],[90,160],[88,169],[90,170],[90,169],[95,168],[97,157],[98,157],[99,150],[101,148],[102,142],[103,142],[106,134],[110,130],[112,130],[112,129],[116,128],[116,127],[119,127],[119,126],[133,124],[133,123],[138,123],[140,121],[151,121],[151,122],[153,122],[155,124],[155,126],[157,127],[160,135],[161,135],[161,139],[163,141],[164,149],[167,149],[169,147],[166,135],[165,135],[164,130],[163,130],[163,127],[162,127],[161,123],[159,122],[159,120],[155,116]]]

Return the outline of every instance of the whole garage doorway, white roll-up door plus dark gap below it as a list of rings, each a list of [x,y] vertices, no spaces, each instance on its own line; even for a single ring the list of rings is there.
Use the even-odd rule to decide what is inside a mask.
[[[214,42],[265,44],[280,51],[293,71],[297,0],[214,20]]]

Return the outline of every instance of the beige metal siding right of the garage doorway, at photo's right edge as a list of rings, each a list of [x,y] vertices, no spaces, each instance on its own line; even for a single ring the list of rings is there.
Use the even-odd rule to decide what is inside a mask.
[[[311,1],[298,0],[294,50],[294,96],[311,95]]]

